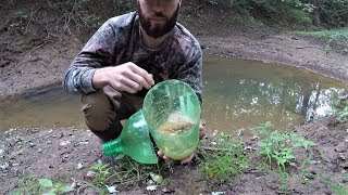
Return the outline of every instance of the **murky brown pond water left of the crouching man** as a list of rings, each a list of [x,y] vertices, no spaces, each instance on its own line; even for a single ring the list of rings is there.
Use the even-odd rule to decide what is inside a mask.
[[[0,130],[9,128],[84,126],[79,95],[65,93],[60,86],[0,102]]]

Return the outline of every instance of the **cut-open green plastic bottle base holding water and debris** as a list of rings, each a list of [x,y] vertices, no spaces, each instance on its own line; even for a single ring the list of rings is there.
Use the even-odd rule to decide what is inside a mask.
[[[181,160],[199,143],[200,102],[179,80],[162,81],[147,93],[142,113],[156,145],[165,156]]]

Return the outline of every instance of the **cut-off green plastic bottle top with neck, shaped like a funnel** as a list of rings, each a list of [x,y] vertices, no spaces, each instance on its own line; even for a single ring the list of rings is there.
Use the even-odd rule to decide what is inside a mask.
[[[117,139],[102,144],[102,151],[107,156],[123,153],[140,164],[158,164],[141,109],[128,118]]]

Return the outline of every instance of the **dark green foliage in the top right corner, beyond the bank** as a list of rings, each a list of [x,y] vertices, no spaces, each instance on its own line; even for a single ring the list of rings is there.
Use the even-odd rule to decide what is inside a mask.
[[[235,0],[234,4],[265,23],[306,27],[343,27],[348,24],[347,0]]]

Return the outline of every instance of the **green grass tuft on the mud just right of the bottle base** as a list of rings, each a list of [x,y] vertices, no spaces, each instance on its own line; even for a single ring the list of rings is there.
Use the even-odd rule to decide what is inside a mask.
[[[244,153],[241,141],[232,142],[229,138],[229,135],[219,136],[216,147],[212,150],[212,153],[202,148],[201,172],[212,182],[226,182],[249,167],[248,156]]]

